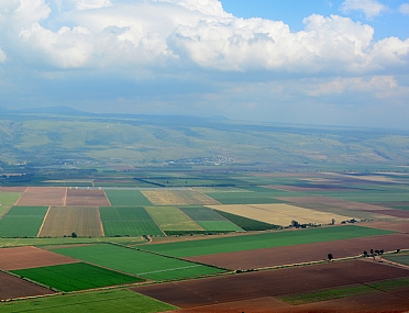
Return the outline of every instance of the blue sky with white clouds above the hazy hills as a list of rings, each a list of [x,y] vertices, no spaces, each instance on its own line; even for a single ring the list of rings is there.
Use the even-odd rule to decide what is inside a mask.
[[[1,0],[0,107],[409,130],[409,0]]]

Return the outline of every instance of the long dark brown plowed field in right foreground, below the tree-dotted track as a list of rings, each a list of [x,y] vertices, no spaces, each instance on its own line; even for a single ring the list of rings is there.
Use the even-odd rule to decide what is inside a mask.
[[[181,309],[192,309],[399,277],[409,277],[409,270],[353,260],[137,287],[132,290]],[[257,309],[256,303],[253,309]]]

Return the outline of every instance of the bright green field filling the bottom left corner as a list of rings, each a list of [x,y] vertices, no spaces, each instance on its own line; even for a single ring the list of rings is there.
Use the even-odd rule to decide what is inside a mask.
[[[0,303],[1,313],[153,313],[176,309],[176,306],[126,289],[70,293]]]

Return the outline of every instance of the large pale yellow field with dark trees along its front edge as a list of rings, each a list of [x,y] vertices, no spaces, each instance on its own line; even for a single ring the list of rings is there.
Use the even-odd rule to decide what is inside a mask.
[[[330,224],[332,219],[335,223],[341,223],[350,216],[342,216],[333,213],[320,212],[303,209],[285,203],[274,204],[229,204],[229,205],[208,205],[209,208],[223,212],[241,215],[261,222],[288,226],[295,220],[300,224]]]

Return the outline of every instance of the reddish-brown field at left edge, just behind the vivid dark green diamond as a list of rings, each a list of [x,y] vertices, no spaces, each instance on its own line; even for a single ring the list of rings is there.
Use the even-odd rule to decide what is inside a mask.
[[[0,269],[4,270],[34,268],[77,261],[78,260],[76,259],[35,247],[0,248]]]

